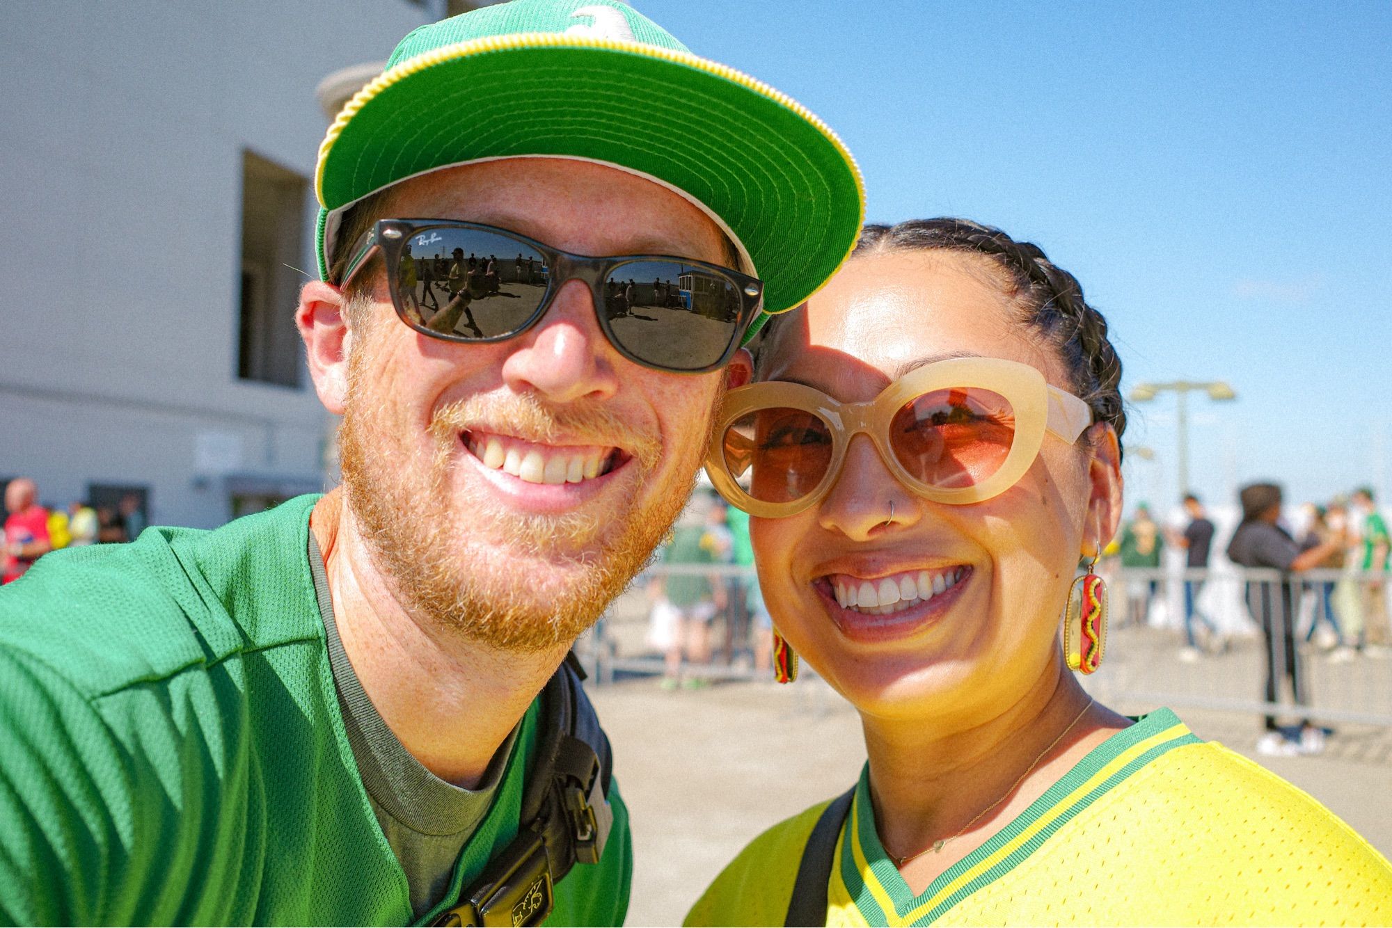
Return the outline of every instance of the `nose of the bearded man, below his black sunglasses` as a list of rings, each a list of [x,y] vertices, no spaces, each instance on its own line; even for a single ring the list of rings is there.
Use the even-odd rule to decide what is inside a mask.
[[[618,352],[604,338],[590,288],[572,280],[503,363],[514,390],[533,390],[555,402],[607,399],[618,391]]]

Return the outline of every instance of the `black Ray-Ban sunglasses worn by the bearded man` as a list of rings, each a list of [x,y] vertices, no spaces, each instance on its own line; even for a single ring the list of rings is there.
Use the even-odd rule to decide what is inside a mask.
[[[696,374],[729,362],[763,305],[763,281],[667,255],[571,255],[518,232],[450,220],[379,220],[340,287],[374,253],[391,302],[422,335],[496,342],[528,331],[571,280],[589,285],[600,330],[629,360]]]

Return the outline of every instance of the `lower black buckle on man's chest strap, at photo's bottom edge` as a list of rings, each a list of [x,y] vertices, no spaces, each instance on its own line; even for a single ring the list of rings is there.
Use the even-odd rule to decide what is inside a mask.
[[[519,835],[454,909],[432,922],[437,928],[472,925],[540,925],[555,906],[551,865],[541,835]]]

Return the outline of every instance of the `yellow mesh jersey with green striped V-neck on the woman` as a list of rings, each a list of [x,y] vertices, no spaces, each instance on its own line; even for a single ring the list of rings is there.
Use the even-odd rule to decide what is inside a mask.
[[[1392,865],[1329,810],[1169,710],[1093,749],[981,847],[909,892],[867,772],[827,886],[827,925],[1386,925]],[[817,817],[775,825],[688,925],[781,925]]]

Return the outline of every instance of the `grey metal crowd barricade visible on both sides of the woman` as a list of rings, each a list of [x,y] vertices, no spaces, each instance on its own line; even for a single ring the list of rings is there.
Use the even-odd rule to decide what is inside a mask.
[[[1274,715],[1285,723],[1308,718],[1392,728],[1392,641],[1382,640],[1385,626],[1379,625],[1392,612],[1388,575],[1307,570],[1282,576],[1226,562],[1208,569],[1104,563],[1100,572],[1111,615],[1107,657],[1097,673],[1084,678],[1098,698]],[[711,623],[711,664],[689,666],[689,672],[706,679],[764,679],[753,654],[761,643],[742,602],[754,582],[753,569],[656,563],[576,643],[596,682],[607,683],[615,673],[663,673],[663,653],[650,643],[656,601],[649,583],[675,575],[731,584],[729,605]],[[1186,583],[1201,616],[1193,619],[1194,648],[1187,647],[1185,632]],[[1247,605],[1249,584],[1256,602],[1265,595],[1272,605],[1270,636]],[[1285,618],[1283,584],[1290,600]],[[1268,658],[1276,671],[1270,694]]]

